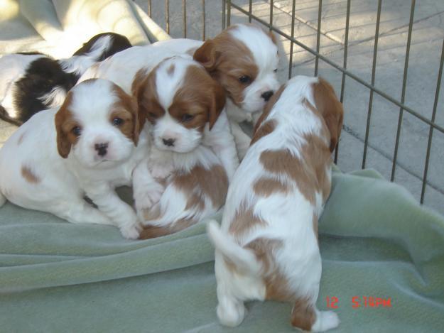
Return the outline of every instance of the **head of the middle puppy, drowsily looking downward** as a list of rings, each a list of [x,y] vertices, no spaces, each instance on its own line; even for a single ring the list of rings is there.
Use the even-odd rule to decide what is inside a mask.
[[[139,72],[134,82],[141,76]],[[133,92],[139,110],[153,124],[154,144],[163,151],[193,151],[225,105],[220,84],[190,58],[164,60],[141,84],[133,84]]]

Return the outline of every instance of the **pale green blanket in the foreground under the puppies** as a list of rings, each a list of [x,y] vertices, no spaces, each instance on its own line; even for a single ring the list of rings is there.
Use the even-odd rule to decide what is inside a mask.
[[[402,187],[335,173],[320,249],[318,307],[337,306],[337,332],[443,332],[444,219]],[[204,223],[129,241],[8,203],[0,253],[0,332],[294,332],[278,302],[249,302],[241,326],[220,326]],[[391,306],[364,307],[370,296]]]

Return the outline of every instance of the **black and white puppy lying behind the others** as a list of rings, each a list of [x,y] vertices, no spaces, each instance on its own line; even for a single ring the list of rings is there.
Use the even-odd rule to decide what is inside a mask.
[[[88,67],[131,47],[125,36],[101,33],[71,58],[54,60],[40,53],[0,58],[0,118],[21,125],[36,112],[58,107]]]

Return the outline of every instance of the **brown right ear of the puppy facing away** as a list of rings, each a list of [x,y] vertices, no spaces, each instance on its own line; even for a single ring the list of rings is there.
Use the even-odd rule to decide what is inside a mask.
[[[339,140],[344,110],[341,102],[337,100],[333,87],[322,78],[319,78],[319,82],[314,84],[313,94],[316,109],[323,115],[328,131],[330,131],[330,152],[332,152]]]

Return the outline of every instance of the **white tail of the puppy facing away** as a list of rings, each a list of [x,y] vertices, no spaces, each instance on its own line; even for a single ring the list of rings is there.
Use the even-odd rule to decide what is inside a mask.
[[[224,234],[216,221],[208,222],[207,233],[215,249],[220,251],[230,262],[234,263],[234,266],[236,266],[239,271],[247,271],[254,275],[259,274],[262,269],[262,264],[257,260],[254,252],[249,249],[244,249],[237,244],[231,236]]]

